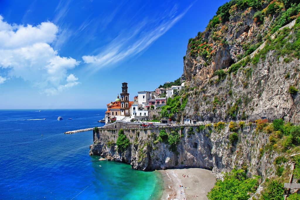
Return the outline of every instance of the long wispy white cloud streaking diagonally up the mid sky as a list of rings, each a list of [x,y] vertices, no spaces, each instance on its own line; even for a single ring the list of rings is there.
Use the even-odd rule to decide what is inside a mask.
[[[101,48],[97,55],[84,55],[82,59],[90,64],[89,70],[97,71],[137,55],[166,33],[191,6],[192,4],[178,13],[177,5],[174,5],[163,13],[157,14],[155,19],[145,17],[136,25],[132,24],[132,28],[123,30],[107,46]]]

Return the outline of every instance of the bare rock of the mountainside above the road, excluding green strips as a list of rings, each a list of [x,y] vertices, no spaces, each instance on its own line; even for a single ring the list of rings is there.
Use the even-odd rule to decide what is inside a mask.
[[[265,3],[261,10],[267,7]],[[229,21],[216,25],[210,22],[203,33],[190,39],[184,56],[189,96],[184,110],[187,118],[213,122],[256,120],[263,116],[271,120],[300,119],[300,97],[288,91],[291,85],[300,88],[300,59],[297,57],[270,50],[255,64],[245,61],[235,73],[227,72],[233,63],[271,35],[271,25],[278,14],[259,21],[254,17],[257,11],[252,7],[232,6]],[[291,31],[289,35],[290,42],[294,42],[294,33]],[[220,69],[225,74],[218,77],[214,72]]]

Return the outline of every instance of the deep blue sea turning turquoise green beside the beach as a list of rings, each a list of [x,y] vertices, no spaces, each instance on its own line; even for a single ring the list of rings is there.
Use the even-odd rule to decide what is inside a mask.
[[[64,134],[103,126],[104,112],[0,110],[0,199],[160,199],[158,172],[89,156],[92,131]]]

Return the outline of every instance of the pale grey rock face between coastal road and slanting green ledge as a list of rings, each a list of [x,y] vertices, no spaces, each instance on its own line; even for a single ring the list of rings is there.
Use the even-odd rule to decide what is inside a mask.
[[[246,66],[224,80],[210,79],[191,93],[185,115],[200,121],[300,118],[300,97],[291,95],[289,87],[299,88],[300,61],[285,63],[272,52],[256,66]],[[197,84],[197,80],[190,83]],[[236,117],[235,117],[236,116]]]

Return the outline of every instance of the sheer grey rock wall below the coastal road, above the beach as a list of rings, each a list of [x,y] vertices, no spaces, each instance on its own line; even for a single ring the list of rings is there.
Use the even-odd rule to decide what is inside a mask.
[[[178,131],[180,128],[169,128],[166,132]],[[205,130],[196,131],[193,127],[191,134],[189,127],[182,129],[182,138],[176,151],[170,146],[158,142],[159,129],[131,129],[124,134],[131,145],[126,151],[118,151],[116,140],[118,133],[115,130],[100,130],[95,134],[95,142],[90,155],[100,155],[111,160],[128,163],[134,169],[155,170],[181,167],[199,167],[211,169],[218,178],[221,172],[228,172],[234,166],[238,168],[248,166],[248,175],[260,175],[267,178],[272,175],[276,153],[261,155],[259,151],[268,142],[265,133],[254,133],[255,127],[248,126],[240,129],[238,141],[232,144],[229,141],[229,128],[216,130],[212,126]],[[188,134],[190,133],[190,134]],[[276,155],[275,155],[276,154]]]

